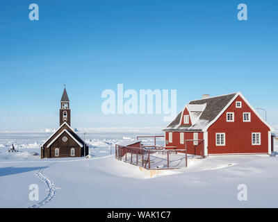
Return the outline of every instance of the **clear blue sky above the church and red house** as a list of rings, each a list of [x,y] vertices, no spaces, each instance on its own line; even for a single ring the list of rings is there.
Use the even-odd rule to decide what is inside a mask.
[[[28,19],[38,3],[40,19]],[[238,21],[245,3],[248,20]],[[101,112],[101,92],[242,92],[277,119],[277,1],[1,1],[0,130],[58,126],[63,84],[73,127],[165,126],[161,115]],[[263,116],[263,112],[260,112]]]

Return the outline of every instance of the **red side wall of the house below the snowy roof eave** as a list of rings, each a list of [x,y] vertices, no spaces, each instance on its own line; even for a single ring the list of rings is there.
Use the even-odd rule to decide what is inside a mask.
[[[177,146],[177,149],[185,149],[185,146],[187,146],[189,154],[204,155],[204,142],[199,141],[198,145],[196,145],[196,146],[193,145],[193,141],[186,142],[186,145],[181,144],[180,143],[180,133],[181,132],[172,132],[172,133],[173,133],[172,143],[168,142],[168,144],[166,144],[166,147],[167,146]],[[197,133],[197,132],[195,132],[195,133]],[[193,139],[193,134],[194,134],[194,132],[184,133],[184,140]],[[167,141],[169,141],[169,132],[165,132],[165,139]],[[202,132],[198,133],[198,139],[204,139]]]

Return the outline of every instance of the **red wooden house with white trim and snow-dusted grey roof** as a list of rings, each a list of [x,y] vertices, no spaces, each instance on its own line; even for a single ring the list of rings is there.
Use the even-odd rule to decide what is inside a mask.
[[[165,146],[195,155],[271,154],[270,125],[240,92],[190,101],[165,131]]]

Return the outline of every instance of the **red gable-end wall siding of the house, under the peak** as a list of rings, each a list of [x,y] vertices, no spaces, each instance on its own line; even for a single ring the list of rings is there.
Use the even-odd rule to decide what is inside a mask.
[[[236,101],[242,108],[236,108]],[[226,113],[234,112],[234,122],[226,121]],[[251,113],[251,121],[243,122],[243,112]],[[238,96],[221,117],[208,128],[208,154],[217,153],[268,153],[268,131],[259,117]],[[215,133],[226,133],[225,146],[215,146]],[[261,145],[252,146],[252,133],[261,133]]]

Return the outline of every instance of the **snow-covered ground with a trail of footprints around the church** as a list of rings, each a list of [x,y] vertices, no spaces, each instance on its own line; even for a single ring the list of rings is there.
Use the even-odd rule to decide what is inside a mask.
[[[278,207],[278,155],[210,156],[153,173],[115,160],[115,143],[154,134],[163,135],[92,129],[85,139],[90,158],[40,160],[40,144],[51,132],[12,133],[17,153],[6,152],[7,135],[0,133],[0,207]],[[28,198],[32,184],[39,200]],[[240,184],[247,186],[246,201],[237,198]]]

